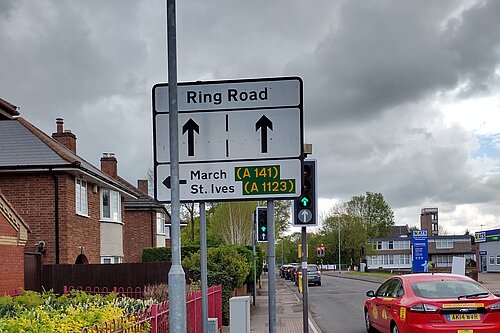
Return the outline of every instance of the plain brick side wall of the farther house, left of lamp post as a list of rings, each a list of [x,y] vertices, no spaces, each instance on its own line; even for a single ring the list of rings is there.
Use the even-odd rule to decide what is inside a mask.
[[[123,224],[123,262],[141,262],[142,249],[155,246],[156,212],[127,210]]]

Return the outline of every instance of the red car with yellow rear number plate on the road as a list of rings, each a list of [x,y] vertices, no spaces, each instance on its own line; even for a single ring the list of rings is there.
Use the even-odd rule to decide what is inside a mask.
[[[366,296],[368,332],[500,332],[500,298],[466,276],[394,276]]]

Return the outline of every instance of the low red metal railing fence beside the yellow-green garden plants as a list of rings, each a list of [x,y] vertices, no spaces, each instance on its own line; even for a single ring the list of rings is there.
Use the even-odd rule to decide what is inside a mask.
[[[64,291],[83,290],[90,294],[109,294],[105,288],[102,290],[97,288],[71,288],[64,287]],[[127,289],[120,292],[120,288],[113,288],[117,292],[127,295]],[[138,293],[137,290],[129,291],[132,295]],[[142,294],[142,291],[141,291]],[[126,325],[126,318],[113,320],[112,322],[104,322],[101,325],[93,325],[91,328],[84,327],[81,333],[126,333],[126,332],[142,332],[148,326],[151,333],[168,333],[168,302],[153,304],[148,310],[134,314],[135,323],[133,326]],[[201,333],[202,318],[201,318],[201,291],[191,292],[186,295],[186,317],[187,317],[187,333]],[[217,318],[219,331],[222,328],[222,285],[212,286],[208,288],[208,317]],[[72,332],[74,333],[74,332]]]

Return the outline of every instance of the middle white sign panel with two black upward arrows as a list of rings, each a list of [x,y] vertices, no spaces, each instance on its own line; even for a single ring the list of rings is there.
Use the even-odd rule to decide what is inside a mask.
[[[201,162],[297,157],[298,108],[179,114],[179,160]],[[156,116],[156,158],[170,161],[169,115]]]

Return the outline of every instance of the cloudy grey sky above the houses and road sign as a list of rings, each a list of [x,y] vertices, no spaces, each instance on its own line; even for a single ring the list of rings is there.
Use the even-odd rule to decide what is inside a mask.
[[[0,97],[136,184],[167,81],[164,0],[2,0]],[[367,191],[397,225],[500,228],[500,1],[177,1],[178,81],[300,76],[321,216]]]

